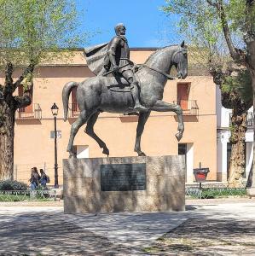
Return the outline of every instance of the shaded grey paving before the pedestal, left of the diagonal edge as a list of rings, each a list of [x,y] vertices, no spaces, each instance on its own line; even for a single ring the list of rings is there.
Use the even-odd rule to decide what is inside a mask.
[[[185,212],[0,215],[2,255],[144,255],[142,247],[183,223]],[[2,253],[2,254],[1,254]]]

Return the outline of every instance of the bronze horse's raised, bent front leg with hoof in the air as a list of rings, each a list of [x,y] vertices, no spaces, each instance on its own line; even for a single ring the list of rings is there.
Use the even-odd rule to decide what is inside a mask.
[[[178,119],[178,133],[176,134],[177,141],[179,142],[181,138],[183,137],[183,131],[184,131],[184,125],[183,125],[183,109],[176,104],[171,104],[163,101],[157,101],[154,104],[154,107],[150,108],[154,111],[159,112],[168,112],[172,111],[177,113],[177,119]]]

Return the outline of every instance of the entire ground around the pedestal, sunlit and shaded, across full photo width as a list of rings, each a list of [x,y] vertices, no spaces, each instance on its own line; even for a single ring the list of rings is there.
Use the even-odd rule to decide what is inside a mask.
[[[187,204],[97,215],[64,214],[61,202],[0,204],[0,255],[255,255],[254,200]]]

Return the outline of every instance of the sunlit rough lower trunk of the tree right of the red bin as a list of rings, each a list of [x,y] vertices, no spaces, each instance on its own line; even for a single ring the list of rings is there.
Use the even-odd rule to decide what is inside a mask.
[[[231,118],[232,126],[231,137],[232,144],[231,157],[229,163],[229,187],[237,188],[241,186],[242,174],[245,172],[246,159],[246,113],[234,113]]]

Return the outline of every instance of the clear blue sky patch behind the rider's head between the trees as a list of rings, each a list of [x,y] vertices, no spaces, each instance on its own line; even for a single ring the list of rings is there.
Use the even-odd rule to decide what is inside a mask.
[[[76,0],[81,15],[80,29],[92,32],[87,45],[108,42],[114,26],[123,22],[130,47],[162,47],[176,40],[177,16],[166,17],[159,10],[165,0]]]

